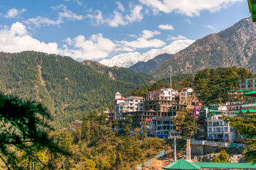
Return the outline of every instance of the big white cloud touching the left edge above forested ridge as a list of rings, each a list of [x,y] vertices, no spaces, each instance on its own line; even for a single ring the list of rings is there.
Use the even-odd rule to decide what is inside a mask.
[[[46,53],[61,53],[57,43],[44,43],[29,36],[26,26],[20,22],[12,24],[10,29],[0,30],[0,49],[3,52],[35,50]]]

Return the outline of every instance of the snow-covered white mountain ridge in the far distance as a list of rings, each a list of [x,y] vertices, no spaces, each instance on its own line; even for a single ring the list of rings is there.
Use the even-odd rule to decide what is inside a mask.
[[[109,67],[131,67],[139,61],[147,62],[148,60],[153,59],[157,55],[163,53],[177,53],[194,42],[195,40],[191,39],[177,40],[170,43],[170,45],[164,46],[162,49],[152,49],[142,54],[139,52],[120,53],[111,59],[101,60],[100,63]]]

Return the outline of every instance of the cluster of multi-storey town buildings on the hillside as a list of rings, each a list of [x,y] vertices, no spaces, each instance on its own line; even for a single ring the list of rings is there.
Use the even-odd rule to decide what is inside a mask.
[[[244,136],[234,131],[222,116],[243,117],[244,113],[256,113],[256,78],[239,80],[237,90],[227,92],[230,99],[227,103],[212,103],[204,105],[199,101],[198,94],[191,87],[174,90],[163,88],[148,92],[145,96],[123,97],[116,92],[114,113],[108,113],[108,120],[120,122],[127,115],[132,115],[132,129],[147,127],[150,134],[166,134],[177,131],[173,118],[179,111],[189,110],[191,116],[196,117],[199,129],[193,132],[193,139],[225,141],[228,143],[244,143]],[[243,101],[236,101],[237,98]],[[233,101],[232,101],[233,100]]]

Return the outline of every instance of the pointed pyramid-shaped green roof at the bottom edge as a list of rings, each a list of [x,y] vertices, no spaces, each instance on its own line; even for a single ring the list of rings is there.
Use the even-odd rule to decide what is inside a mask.
[[[199,166],[192,164],[184,159],[179,159],[172,164],[162,167],[163,169],[200,169]]]

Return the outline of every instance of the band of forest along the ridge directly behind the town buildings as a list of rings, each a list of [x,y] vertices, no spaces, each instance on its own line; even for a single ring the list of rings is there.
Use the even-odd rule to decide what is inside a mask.
[[[178,74],[172,76],[172,88],[179,90],[182,87],[194,87],[195,92],[205,104],[227,101],[227,92],[238,89],[238,81],[253,78],[249,69],[242,67],[218,67],[203,69],[196,74]],[[149,91],[170,87],[170,78],[164,78],[156,83],[140,85],[125,96],[143,96]]]

